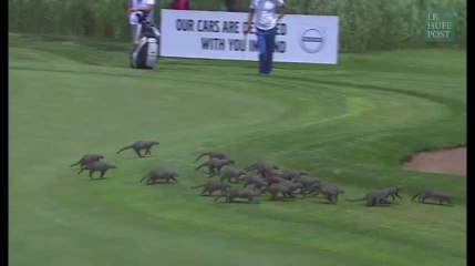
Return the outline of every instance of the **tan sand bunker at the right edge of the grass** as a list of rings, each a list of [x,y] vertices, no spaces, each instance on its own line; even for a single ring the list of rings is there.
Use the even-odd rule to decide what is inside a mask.
[[[402,165],[404,170],[461,176],[467,175],[466,147],[421,152],[413,154],[404,161]]]

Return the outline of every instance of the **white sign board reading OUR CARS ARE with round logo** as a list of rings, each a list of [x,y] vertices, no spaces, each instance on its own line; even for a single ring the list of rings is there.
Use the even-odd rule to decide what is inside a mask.
[[[247,37],[248,13],[162,9],[161,57],[258,60],[255,28]],[[287,14],[277,24],[276,62],[338,61],[339,18]]]

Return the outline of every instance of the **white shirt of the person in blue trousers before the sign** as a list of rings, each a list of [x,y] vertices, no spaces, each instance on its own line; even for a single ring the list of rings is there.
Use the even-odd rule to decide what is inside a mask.
[[[277,8],[282,7],[283,0],[251,0],[250,7],[256,13],[256,27],[260,30],[270,30],[277,25]]]

